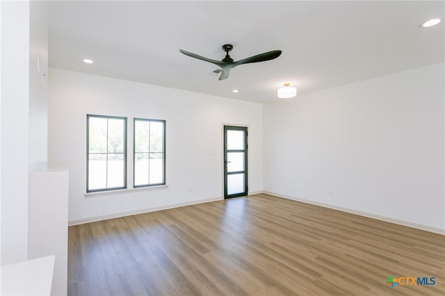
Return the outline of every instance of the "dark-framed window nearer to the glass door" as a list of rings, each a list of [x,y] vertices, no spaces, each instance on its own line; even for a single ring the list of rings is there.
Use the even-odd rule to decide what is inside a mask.
[[[165,120],[134,119],[133,186],[165,184]]]

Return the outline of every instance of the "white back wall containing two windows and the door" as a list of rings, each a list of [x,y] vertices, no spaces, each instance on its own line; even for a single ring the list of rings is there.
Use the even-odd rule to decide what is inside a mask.
[[[166,120],[168,187],[84,196],[87,114],[128,117],[129,143],[133,117]],[[261,104],[50,68],[49,161],[69,164],[70,222],[221,199],[223,123],[249,126],[249,192],[262,190]]]

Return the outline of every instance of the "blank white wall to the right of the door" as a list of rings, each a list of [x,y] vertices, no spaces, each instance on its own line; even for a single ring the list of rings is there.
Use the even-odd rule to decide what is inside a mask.
[[[444,64],[264,106],[264,189],[445,229]]]

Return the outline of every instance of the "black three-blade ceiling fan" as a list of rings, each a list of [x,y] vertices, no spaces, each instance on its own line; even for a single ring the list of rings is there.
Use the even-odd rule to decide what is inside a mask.
[[[221,69],[216,69],[213,71],[213,73],[221,73],[220,78],[218,80],[227,79],[229,77],[230,69],[243,65],[248,63],[258,63],[258,62],[264,62],[266,60],[273,60],[274,58],[278,58],[282,51],[280,50],[274,50],[274,51],[268,51],[263,54],[257,54],[256,56],[251,56],[250,58],[243,58],[243,60],[237,60],[236,62],[230,58],[229,51],[233,49],[232,44],[224,44],[223,45],[223,51],[225,51],[225,58],[223,60],[212,60],[210,58],[204,58],[204,56],[198,56],[197,54],[193,54],[191,52],[179,49],[182,54],[185,54],[186,56],[191,56],[192,58],[197,58],[198,60],[205,60],[206,62],[213,63],[220,67]]]

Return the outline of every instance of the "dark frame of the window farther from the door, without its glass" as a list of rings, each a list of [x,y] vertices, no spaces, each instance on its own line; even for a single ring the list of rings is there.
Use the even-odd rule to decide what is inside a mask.
[[[106,118],[108,119],[118,119],[118,120],[124,120],[124,186],[122,187],[112,187],[112,188],[99,188],[99,189],[92,189],[89,190],[89,176],[90,176],[90,117],[99,117],[99,118]],[[108,126],[108,125],[107,125]],[[110,191],[110,190],[122,190],[127,189],[127,117],[121,117],[121,116],[108,116],[108,115],[95,115],[95,114],[87,114],[86,115],[86,192],[103,192],[103,191]],[[108,141],[108,131],[107,131],[107,141]],[[106,151],[106,154],[108,156],[108,151]],[[108,157],[107,157],[107,163],[108,163]],[[107,171],[108,174],[108,171]]]

